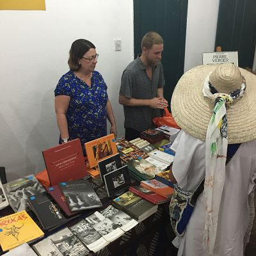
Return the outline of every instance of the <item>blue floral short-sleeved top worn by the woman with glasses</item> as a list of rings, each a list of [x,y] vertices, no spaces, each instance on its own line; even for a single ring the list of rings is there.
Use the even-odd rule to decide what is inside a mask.
[[[71,140],[81,140],[84,153],[84,143],[107,134],[107,88],[97,71],[93,71],[91,86],[88,86],[70,70],[61,77],[54,90],[55,96],[70,96],[66,113],[68,134]]]

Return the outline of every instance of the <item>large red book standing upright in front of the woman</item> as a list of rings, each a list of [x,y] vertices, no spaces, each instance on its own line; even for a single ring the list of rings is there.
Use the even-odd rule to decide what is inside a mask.
[[[82,179],[87,175],[79,139],[43,151],[51,186],[61,181]]]

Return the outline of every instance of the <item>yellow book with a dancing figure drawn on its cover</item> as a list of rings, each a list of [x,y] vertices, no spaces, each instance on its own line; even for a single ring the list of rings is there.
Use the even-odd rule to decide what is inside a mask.
[[[42,236],[44,232],[26,211],[0,218],[0,244],[4,252]]]

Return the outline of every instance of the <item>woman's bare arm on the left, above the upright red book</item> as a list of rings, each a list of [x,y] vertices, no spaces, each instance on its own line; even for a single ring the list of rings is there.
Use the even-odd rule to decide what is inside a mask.
[[[70,96],[58,95],[55,97],[55,113],[57,118],[57,124],[60,130],[61,139],[69,138],[68,124],[66,113],[70,101]]]

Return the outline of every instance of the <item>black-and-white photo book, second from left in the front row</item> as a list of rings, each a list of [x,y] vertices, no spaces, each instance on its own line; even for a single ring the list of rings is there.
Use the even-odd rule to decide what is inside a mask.
[[[99,221],[100,222],[100,221]],[[109,244],[95,228],[92,227],[92,223],[87,220],[81,220],[76,225],[70,227],[70,230],[75,234],[87,248],[93,252],[98,252]]]

